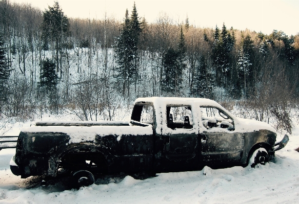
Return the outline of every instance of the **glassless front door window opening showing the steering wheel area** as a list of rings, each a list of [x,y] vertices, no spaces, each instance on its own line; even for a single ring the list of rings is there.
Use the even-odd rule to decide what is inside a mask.
[[[234,129],[233,121],[221,110],[215,107],[201,107],[202,122],[207,129],[226,128]]]

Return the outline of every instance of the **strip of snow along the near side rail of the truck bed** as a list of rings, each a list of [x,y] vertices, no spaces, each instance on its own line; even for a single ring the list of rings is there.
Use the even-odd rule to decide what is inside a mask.
[[[70,136],[69,143],[94,141],[95,136],[115,135],[119,141],[122,135],[152,135],[152,126],[33,126],[21,129],[22,132],[61,132]]]

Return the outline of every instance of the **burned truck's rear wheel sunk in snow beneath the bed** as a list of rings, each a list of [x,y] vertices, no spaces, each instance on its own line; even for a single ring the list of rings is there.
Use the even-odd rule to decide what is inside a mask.
[[[79,170],[72,175],[73,187],[79,189],[80,187],[90,186],[94,183],[94,176],[91,172],[86,170]]]

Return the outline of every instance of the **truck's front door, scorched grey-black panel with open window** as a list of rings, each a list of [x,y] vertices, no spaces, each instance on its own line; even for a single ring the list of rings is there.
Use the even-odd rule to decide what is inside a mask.
[[[215,107],[201,107],[201,159],[204,163],[236,163],[243,154],[244,134],[234,132],[234,123]]]

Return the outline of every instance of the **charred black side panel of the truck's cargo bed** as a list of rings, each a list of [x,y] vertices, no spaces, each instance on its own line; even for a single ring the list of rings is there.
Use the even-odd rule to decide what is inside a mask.
[[[121,137],[118,141],[117,138]],[[18,175],[56,176],[58,168],[92,172],[143,171],[152,167],[152,135],[96,135],[95,141],[72,143],[65,133],[21,132],[16,148]],[[88,162],[87,162],[88,161]]]

